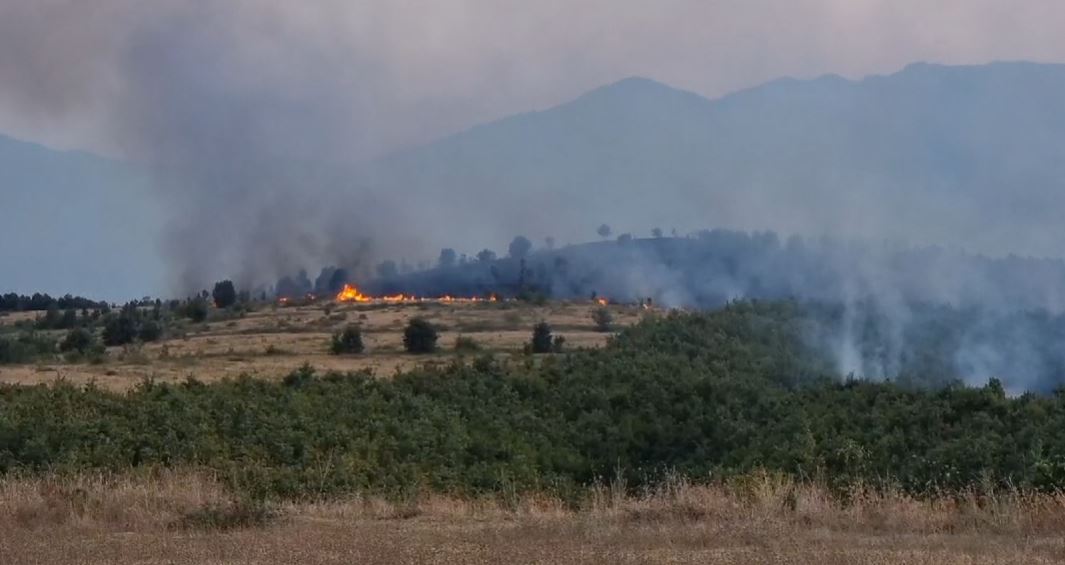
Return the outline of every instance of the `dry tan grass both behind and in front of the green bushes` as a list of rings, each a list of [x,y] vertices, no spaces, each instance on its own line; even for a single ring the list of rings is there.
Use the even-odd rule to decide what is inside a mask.
[[[449,362],[459,335],[493,354],[519,353],[541,319],[569,347],[600,346],[608,334],[595,331],[595,308],[271,305],[186,323],[183,335],[160,343],[113,348],[99,365],[4,366],[0,381],[65,379],[124,389],[146,377],[276,379],[304,364],[368,368],[387,378],[415,364]],[[610,309],[618,327],[646,315],[634,306]],[[403,328],[413,316],[442,328],[439,353],[404,352]],[[330,336],[348,323],[361,325],[366,353],[329,354]],[[1065,495],[921,501],[857,492],[843,502],[816,486],[770,477],[669,484],[635,497],[623,491],[601,488],[576,509],[544,497],[259,506],[234,499],[203,471],[9,476],[0,478],[0,564],[1065,563]]]

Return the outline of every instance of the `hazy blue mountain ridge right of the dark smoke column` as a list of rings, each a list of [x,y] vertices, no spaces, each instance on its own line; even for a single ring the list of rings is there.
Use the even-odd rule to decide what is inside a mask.
[[[915,64],[717,100],[626,79],[392,155],[364,184],[431,202],[409,219],[462,226],[456,245],[606,221],[1060,256],[1063,157],[1065,66]]]

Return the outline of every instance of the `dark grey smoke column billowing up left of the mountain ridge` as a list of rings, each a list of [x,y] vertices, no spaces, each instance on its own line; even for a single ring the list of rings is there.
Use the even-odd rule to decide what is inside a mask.
[[[170,216],[170,292],[220,277],[247,287],[308,264],[356,270],[374,252],[416,247],[392,233],[398,203],[351,181],[379,149],[361,88],[373,64],[301,19],[328,10],[258,4],[0,9],[6,100],[43,122],[96,116],[110,149],[151,175]]]

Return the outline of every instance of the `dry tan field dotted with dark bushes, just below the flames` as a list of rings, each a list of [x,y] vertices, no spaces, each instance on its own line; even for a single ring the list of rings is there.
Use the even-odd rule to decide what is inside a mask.
[[[266,305],[242,317],[187,323],[184,335],[158,343],[110,348],[108,360],[98,365],[54,362],[0,366],[0,382],[38,384],[63,379],[122,389],[145,378],[168,382],[189,377],[209,382],[242,375],[274,379],[305,364],[322,371],[371,369],[387,377],[417,364],[454,359],[455,339],[460,335],[473,337],[486,352],[519,353],[540,320],[551,323],[556,335],[564,336],[569,348],[599,347],[608,334],[595,330],[591,313],[596,308],[561,302],[542,306],[521,302]],[[635,306],[609,308],[619,328],[643,314]],[[38,315],[24,312],[0,317],[0,327]],[[425,317],[441,329],[437,354],[404,351],[403,330],[414,316]],[[348,323],[362,328],[366,352],[329,354],[332,333]],[[55,332],[56,338],[63,333]]]

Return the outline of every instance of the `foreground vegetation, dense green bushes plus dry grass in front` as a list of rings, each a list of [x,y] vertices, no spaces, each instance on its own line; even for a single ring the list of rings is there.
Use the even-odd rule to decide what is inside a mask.
[[[461,336],[389,378],[0,385],[0,553],[120,562],[92,532],[122,531],[142,561],[175,559],[174,532],[182,559],[241,563],[1062,554],[1065,395],[841,380],[810,323],[741,302],[563,353],[545,323],[507,355]],[[340,356],[362,335],[338,333]]]

